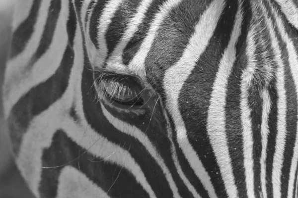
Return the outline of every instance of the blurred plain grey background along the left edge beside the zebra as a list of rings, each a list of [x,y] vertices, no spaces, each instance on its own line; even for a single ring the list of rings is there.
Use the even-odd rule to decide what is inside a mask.
[[[0,198],[33,198],[13,163],[7,126],[3,119],[1,91],[14,2],[17,0],[0,0]]]

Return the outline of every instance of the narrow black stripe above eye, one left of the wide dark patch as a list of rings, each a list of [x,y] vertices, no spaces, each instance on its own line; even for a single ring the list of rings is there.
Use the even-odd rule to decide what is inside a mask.
[[[149,6],[143,22],[139,25],[138,31],[135,32],[134,36],[127,44],[126,48],[123,50],[123,63],[128,65],[129,62],[134,58],[138,50],[140,49],[143,40],[145,39],[150,24],[152,23],[153,17],[159,11],[163,2],[166,0],[153,0],[151,5]]]

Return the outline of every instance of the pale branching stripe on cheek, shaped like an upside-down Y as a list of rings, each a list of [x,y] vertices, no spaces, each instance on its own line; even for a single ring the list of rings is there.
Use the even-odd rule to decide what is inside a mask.
[[[78,30],[79,27],[76,31],[77,36],[75,37],[74,46],[77,56],[75,56],[69,87],[60,100],[53,103],[46,111],[31,121],[28,132],[23,136],[23,142],[20,145],[20,152],[16,159],[17,165],[34,195],[39,197],[38,186],[41,180],[42,151],[51,145],[55,131],[62,129],[74,142],[87,149],[89,153],[96,157],[105,158],[107,161],[129,170],[135,176],[136,181],[149,193],[149,196],[155,198],[154,192],[146,181],[141,168],[127,150],[108,142],[107,139],[100,136],[90,127],[86,129],[85,126],[88,126],[86,120],[81,120],[82,124],[77,125],[69,117],[68,109],[73,105],[74,94],[76,96],[75,104],[78,105],[76,112],[80,117],[84,116],[82,96],[80,86],[78,86],[81,84],[83,68],[81,66],[83,53],[78,53],[82,52],[80,31]]]

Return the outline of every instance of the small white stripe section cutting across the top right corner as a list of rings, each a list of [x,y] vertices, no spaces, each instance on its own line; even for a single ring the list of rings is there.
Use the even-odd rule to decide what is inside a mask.
[[[293,0],[276,0],[292,25],[298,29],[298,7]]]

